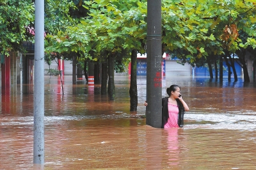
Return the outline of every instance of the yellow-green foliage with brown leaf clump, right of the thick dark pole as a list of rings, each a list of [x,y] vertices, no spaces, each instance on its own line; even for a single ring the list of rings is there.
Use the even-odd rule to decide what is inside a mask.
[[[182,63],[202,65],[204,58],[223,50],[253,47],[252,40],[239,44],[242,37],[237,31],[243,29],[255,40],[255,17],[253,1],[163,1],[163,43]]]

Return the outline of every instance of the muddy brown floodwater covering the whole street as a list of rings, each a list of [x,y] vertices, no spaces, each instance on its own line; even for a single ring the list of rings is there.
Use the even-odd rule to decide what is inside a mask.
[[[129,111],[129,77],[116,76],[116,100],[72,77],[45,77],[45,164],[42,169],[256,169],[253,83],[168,77],[189,105],[185,126],[145,125],[145,77],[138,111]],[[1,91],[0,169],[33,165],[33,86]],[[93,95],[94,94],[94,95]]]

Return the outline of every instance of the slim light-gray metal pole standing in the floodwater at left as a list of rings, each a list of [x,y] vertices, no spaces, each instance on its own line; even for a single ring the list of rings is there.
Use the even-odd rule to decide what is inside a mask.
[[[35,1],[34,164],[44,164],[44,1]]]

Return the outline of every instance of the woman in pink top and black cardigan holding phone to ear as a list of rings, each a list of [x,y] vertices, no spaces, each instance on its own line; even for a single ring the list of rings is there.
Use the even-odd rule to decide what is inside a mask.
[[[183,127],[184,111],[189,108],[180,95],[180,87],[173,84],[166,92],[169,97],[162,98],[162,128]],[[147,102],[144,105],[147,106]]]

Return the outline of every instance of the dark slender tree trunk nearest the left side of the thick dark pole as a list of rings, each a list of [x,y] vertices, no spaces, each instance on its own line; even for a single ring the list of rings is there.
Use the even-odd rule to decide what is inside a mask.
[[[137,91],[137,50],[132,50],[131,54],[131,84],[130,84],[130,111],[137,111],[138,91]]]

